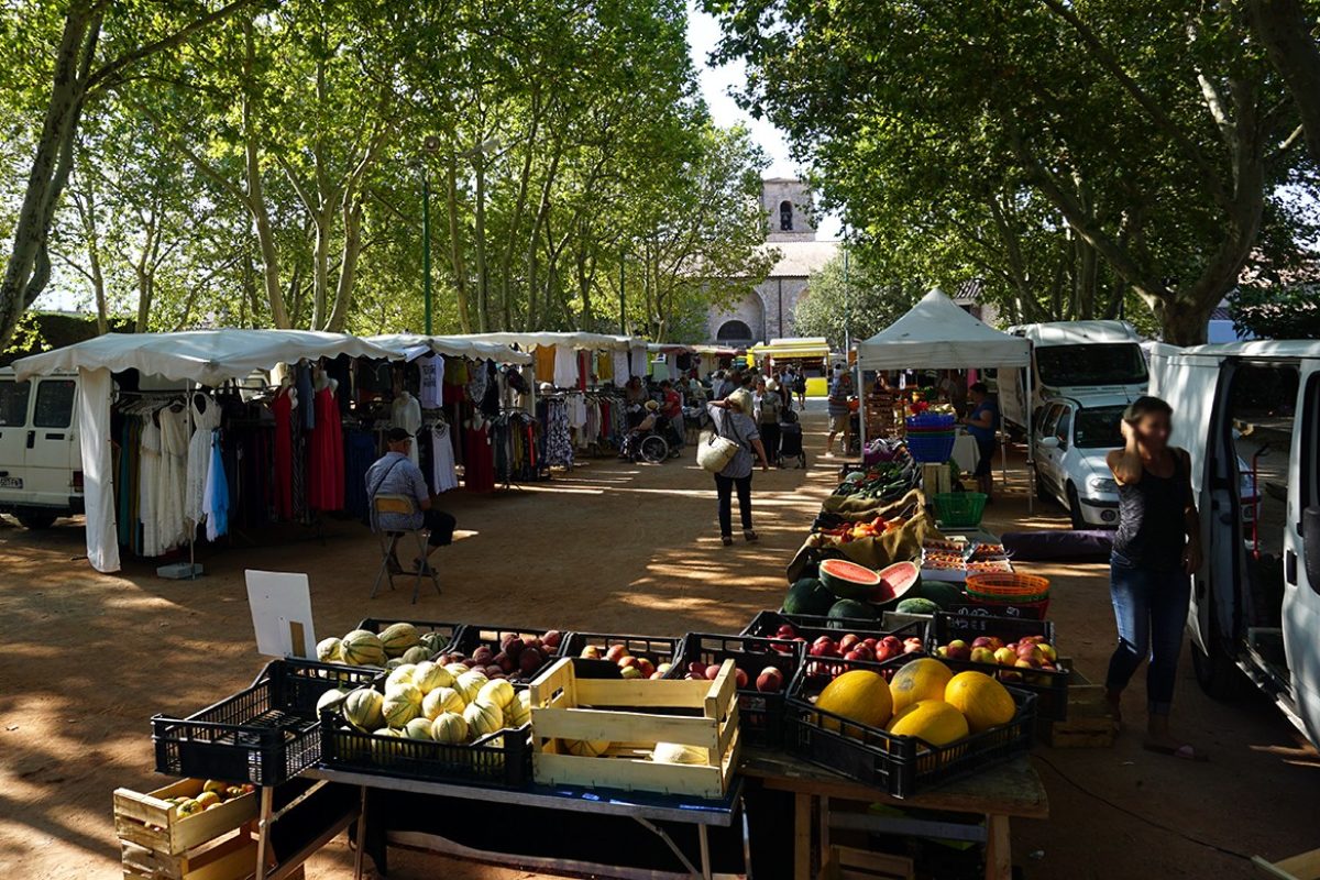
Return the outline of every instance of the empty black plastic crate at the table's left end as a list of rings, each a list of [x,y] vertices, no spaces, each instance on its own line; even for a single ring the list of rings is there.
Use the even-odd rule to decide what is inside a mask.
[[[305,660],[275,660],[251,687],[187,718],[152,718],[156,769],[170,776],[279,785],[321,757],[317,701],[380,676]]]

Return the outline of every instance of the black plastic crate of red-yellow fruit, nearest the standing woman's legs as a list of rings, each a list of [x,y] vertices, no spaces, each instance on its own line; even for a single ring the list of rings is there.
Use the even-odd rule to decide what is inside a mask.
[[[927,649],[935,654],[935,649],[946,645],[954,639],[962,639],[968,644],[978,636],[995,636],[1005,644],[1018,641],[1023,636],[1041,636],[1057,653],[1055,644],[1055,624],[1049,620],[1023,620],[1020,617],[990,617],[985,615],[957,615],[940,612],[931,623],[931,639]],[[1068,718],[1068,679],[1071,670],[1060,666],[1051,669],[1020,669],[1018,666],[1001,666],[998,664],[977,664],[970,660],[953,660],[941,657],[949,669],[975,672],[994,676],[1005,685],[1020,687],[1036,695],[1036,714],[1049,720],[1061,722]]]

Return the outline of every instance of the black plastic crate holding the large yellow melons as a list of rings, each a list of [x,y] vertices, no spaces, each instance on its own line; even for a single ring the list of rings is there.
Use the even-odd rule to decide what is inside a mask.
[[[900,662],[869,664],[886,678],[892,678],[912,657]],[[838,660],[817,660],[817,666],[850,666]],[[1001,764],[1031,751],[1036,719],[1036,695],[1008,687],[1018,714],[1003,727],[972,734],[949,745],[931,745],[915,736],[895,736],[886,731],[850,722],[833,712],[816,708],[817,697],[833,676],[808,674],[803,664],[788,690],[784,708],[784,745],[812,764],[875,785],[892,797],[911,797],[932,786]],[[826,730],[821,719],[832,718],[838,731]]]

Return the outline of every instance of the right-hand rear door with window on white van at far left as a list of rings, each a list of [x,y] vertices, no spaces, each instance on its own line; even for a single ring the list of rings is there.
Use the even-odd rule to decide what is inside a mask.
[[[49,377],[36,380],[32,422],[26,431],[25,480],[33,504],[67,508],[74,495],[73,475],[78,462],[74,437],[74,406],[78,380]]]

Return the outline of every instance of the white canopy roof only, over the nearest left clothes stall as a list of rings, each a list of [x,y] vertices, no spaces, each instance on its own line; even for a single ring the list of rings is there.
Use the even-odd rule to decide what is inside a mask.
[[[356,336],[312,330],[186,330],[106,334],[13,363],[18,381],[75,369],[137,369],[176,381],[219,385],[255,369],[273,369],[308,358],[385,358],[399,355]],[[108,401],[107,401],[108,405]]]

